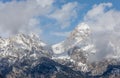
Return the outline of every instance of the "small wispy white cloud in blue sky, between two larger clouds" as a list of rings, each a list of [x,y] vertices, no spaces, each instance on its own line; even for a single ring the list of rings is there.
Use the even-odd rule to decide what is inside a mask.
[[[58,21],[58,24],[61,25],[61,28],[70,26],[72,19],[77,17],[77,2],[70,2],[64,4],[61,9],[57,9],[53,14],[50,15],[50,18],[54,18]]]

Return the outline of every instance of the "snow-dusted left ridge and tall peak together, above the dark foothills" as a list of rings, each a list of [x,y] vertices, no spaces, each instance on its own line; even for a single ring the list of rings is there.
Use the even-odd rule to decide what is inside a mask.
[[[89,38],[91,34],[87,24],[79,24],[66,40],[49,47],[35,34],[18,34],[10,38],[0,38],[0,60],[8,58],[10,64],[16,61],[32,59],[37,62],[40,57],[61,60],[61,64],[71,63],[81,71],[87,71],[89,54],[96,51]],[[60,61],[58,61],[60,62]],[[72,65],[71,65],[72,66]]]

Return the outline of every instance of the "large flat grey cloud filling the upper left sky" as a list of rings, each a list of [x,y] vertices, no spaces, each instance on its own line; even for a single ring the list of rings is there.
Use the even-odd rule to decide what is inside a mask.
[[[0,2],[0,35],[6,37],[19,32],[40,33],[41,29],[37,26],[39,20],[35,17],[47,15],[52,10],[53,2],[53,0]]]

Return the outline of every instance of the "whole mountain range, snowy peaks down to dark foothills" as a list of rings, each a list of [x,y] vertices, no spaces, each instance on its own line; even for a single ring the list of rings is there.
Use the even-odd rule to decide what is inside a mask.
[[[91,61],[97,53],[91,32],[81,23],[54,45],[44,43],[36,34],[0,38],[0,77],[119,78],[120,61],[114,55]],[[116,50],[112,43],[109,46]]]

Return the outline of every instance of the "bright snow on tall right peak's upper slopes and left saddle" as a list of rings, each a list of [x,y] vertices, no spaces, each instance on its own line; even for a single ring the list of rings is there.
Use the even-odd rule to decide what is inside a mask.
[[[68,52],[69,49],[76,46],[79,46],[83,51],[89,50],[94,53],[95,50],[92,51],[94,45],[90,44],[89,35],[89,26],[85,23],[81,23],[71,32],[65,41],[52,46],[54,54],[66,54],[65,52]]]

